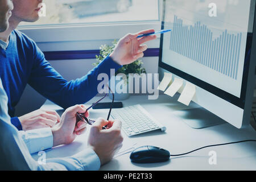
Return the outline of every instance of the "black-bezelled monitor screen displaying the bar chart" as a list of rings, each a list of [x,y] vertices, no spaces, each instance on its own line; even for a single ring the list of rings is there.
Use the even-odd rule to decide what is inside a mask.
[[[162,68],[243,109],[255,0],[166,0]]]

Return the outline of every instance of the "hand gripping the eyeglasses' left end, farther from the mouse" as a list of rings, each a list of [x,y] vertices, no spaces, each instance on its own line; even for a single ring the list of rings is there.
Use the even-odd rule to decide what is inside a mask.
[[[75,105],[65,110],[61,115],[60,122],[52,127],[53,147],[69,144],[75,140],[77,135],[85,132],[87,123],[79,121],[76,125],[76,113],[85,113],[85,111],[84,105]],[[85,113],[85,117],[89,117],[88,111]]]

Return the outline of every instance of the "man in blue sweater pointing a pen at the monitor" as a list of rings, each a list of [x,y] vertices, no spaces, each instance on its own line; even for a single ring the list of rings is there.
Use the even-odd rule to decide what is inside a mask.
[[[42,1],[13,0],[13,3],[10,27],[0,33],[0,77],[9,99],[9,114],[13,117],[11,123],[19,130],[49,127],[60,120],[55,111],[44,110],[37,110],[19,118],[14,117],[14,107],[18,104],[27,84],[64,109],[83,104],[96,96],[97,85],[100,82],[97,76],[100,73],[106,73],[110,77],[110,69],[117,71],[122,65],[133,63],[143,57],[147,46],[142,44],[156,38],[152,35],[137,39],[139,34],[154,30],[128,34],[119,40],[113,53],[98,67],[84,77],[67,81],[51,67],[33,40],[15,30],[22,21],[35,22],[39,19],[39,4]],[[84,122],[79,122],[77,128],[82,132],[81,130],[85,129]]]

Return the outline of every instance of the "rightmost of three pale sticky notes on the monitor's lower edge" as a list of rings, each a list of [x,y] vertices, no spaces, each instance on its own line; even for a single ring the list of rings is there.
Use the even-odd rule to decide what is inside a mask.
[[[187,82],[187,84],[185,85],[185,88],[181,92],[181,95],[178,101],[188,106],[189,103],[192,101],[192,98],[195,96],[195,94],[196,94],[196,86]]]

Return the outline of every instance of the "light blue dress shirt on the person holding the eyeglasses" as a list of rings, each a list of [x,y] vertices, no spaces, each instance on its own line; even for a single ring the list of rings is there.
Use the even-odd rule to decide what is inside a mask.
[[[11,124],[8,115],[7,96],[0,78],[0,170],[98,170],[100,159],[90,149],[79,152],[68,158],[48,159],[46,164],[36,162],[24,143],[26,134],[19,134]],[[23,140],[24,139],[24,140]],[[34,144],[31,140],[30,144]]]

